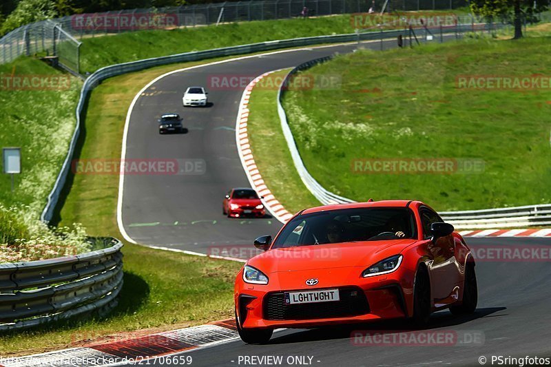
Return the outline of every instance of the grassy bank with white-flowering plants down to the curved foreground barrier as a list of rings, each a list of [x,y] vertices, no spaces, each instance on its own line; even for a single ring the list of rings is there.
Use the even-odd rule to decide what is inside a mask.
[[[81,228],[63,237],[39,221],[74,132],[81,81],[42,61],[0,65],[0,147],[21,149],[21,174],[0,178],[0,263],[87,251]]]

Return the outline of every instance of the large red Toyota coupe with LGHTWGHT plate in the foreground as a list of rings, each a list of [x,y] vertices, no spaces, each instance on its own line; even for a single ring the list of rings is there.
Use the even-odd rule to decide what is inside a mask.
[[[475,261],[464,239],[419,201],[327,205],[297,213],[251,258],[235,284],[236,324],[246,343],[274,328],[406,318],[477,306]]]

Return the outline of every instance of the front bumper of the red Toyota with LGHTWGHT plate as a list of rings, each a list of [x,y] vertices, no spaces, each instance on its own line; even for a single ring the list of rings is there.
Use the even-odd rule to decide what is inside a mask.
[[[242,277],[240,273],[236,282],[236,311],[243,328],[308,328],[408,317],[413,310],[413,280],[409,283],[407,277],[400,279],[399,273],[402,272],[356,278],[356,284],[349,282],[315,288],[286,288],[284,291],[275,284],[273,287],[270,284],[242,282],[239,280]],[[303,278],[302,275],[295,277]],[[336,271],[333,271],[331,277],[338,277]],[[285,305],[280,301],[273,301],[274,295],[282,297],[285,291],[335,288],[340,291],[338,302]],[[352,291],[355,295],[351,295]]]

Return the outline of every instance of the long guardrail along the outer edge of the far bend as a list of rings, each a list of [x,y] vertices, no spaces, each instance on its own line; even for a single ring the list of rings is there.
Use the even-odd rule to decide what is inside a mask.
[[[486,25],[481,24],[461,24],[455,25],[452,27],[441,28],[441,32],[450,34],[459,32],[470,32],[472,30],[485,30]],[[122,63],[117,65],[110,65],[102,67],[100,70],[97,70],[85,80],[83,87],[81,89],[81,94],[79,98],[79,103],[76,105],[76,127],[72,136],[72,140],[67,151],[67,156],[61,167],[61,171],[56,178],[54,187],[48,196],[48,202],[41,214],[41,219],[44,222],[50,222],[54,212],[54,208],[59,199],[59,194],[65,185],[65,180],[67,179],[67,174],[69,174],[71,160],[74,155],[74,147],[76,145],[76,140],[79,138],[80,134],[80,125],[81,125],[81,114],[83,112],[83,107],[86,101],[88,94],[96,87],[101,81],[110,78],[112,76],[121,75],[129,72],[136,72],[138,70],[147,69],[148,67],[167,65],[170,63],[181,63],[186,61],[198,61],[204,59],[211,59],[214,57],[221,56],[232,56],[238,54],[251,54],[253,52],[262,52],[269,50],[277,50],[282,48],[293,48],[309,45],[317,45],[321,43],[344,43],[344,42],[355,42],[355,41],[367,41],[367,40],[377,40],[377,39],[391,39],[397,37],[399,34],[403,36],[408,34],[406,30],[388,30],[382,32],[364,32],[364,33],[351,33],[351,34],[335,34],[331,36],[315,36],[315,37],[304,37],[298,39],[286,39],[280,41],[268,41],[260,43],[251,43],[249,45],[240,45],[235,47],[227,48],[216,48],[214,50],[207,51],[196,51],[196,52],[185,52],[183,54],[175,54],[171,56],[161,56],[153,59],[145,59],[140,61],[133,61],[130,63]]]

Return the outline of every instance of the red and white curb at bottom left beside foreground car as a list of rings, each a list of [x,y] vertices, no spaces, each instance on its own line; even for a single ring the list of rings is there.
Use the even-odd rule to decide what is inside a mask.
[[[238,338],[235,321],[228,319],[209,325],[181,328],[96,346],[70,348],[24,357],[0,358],[0,367],[119,366],[151,364],[154,361],[158,361],[159,364],[180,364],[180,359],[185,360],[184,356],[169,357],[169,355],[207,348]],[[190,363],[187,361],[185,364]]]

